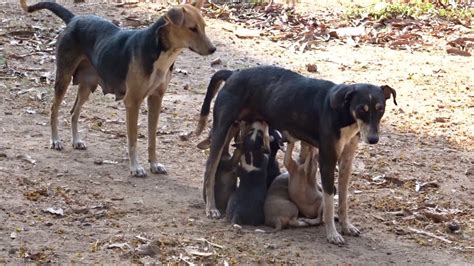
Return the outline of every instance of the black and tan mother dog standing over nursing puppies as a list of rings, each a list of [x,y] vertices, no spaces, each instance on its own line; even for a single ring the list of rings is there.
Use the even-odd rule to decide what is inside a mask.
[[[352,159],[359,139],[369,144],[379,140],[380,120],[385,102],[396,92],[389,86],[371,84],[335,84],[327,80],[303,77],[292,71],[272,67],[254,67],[240,71],[218,71],[209,86],[196,129],[200,133],[209,115],[212,96],[225,81],[217,96],[211,131],[211,146],[206,168],[206,186],[213,187],[217,163],[229,128],[235,120],[262,117],[269,125],[288,132],[296,139],[319,148],[319,167],[323,186],[323,219],[327,239],[344,243],[334,223],[334,172],[339,163],[339,221],[342,232],[359,235],[347,216],[347,194]],[[219,217],[214,191],[207,189],[206,214]]]

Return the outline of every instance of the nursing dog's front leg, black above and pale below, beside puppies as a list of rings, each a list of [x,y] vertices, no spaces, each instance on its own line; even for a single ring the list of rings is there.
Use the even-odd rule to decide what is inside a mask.
[[[330,142],[330,141],[329,141]],[[320,147],[319,169],[323,185],[323,220],[326,227],[326,238],[329,243],[342,245],[344,238],[337,232],[334,223],[334,170],[336,169],[337,155],[334,147],[327,142]]]

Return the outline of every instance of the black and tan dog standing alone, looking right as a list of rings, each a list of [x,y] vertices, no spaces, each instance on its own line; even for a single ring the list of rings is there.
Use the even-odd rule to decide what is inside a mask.
[[[212,54],[216,48],[205,34],[200,11],[191,5],[173,7],[145,29],[126,30],[92,15],[76,16],[63,6],[40,2],[31,6],[20,0],[27,12],[48,9],[66,24],[56,49],[56,81],[51,107],[51,148],[63,149],[58,135],[58,110],[71,80],[79,85],[72,112],[72,145],[86,146],[78,134],[77,121],[84,102],[98,85],[105,93],[123,99],[126,107],[128,152],[133,176],[146,172],[137,158],[139,108],[148,97],[148,158],[153,173],[166,173],[156,158],[156,128],[163,95],[176,57],[189,48]]]

